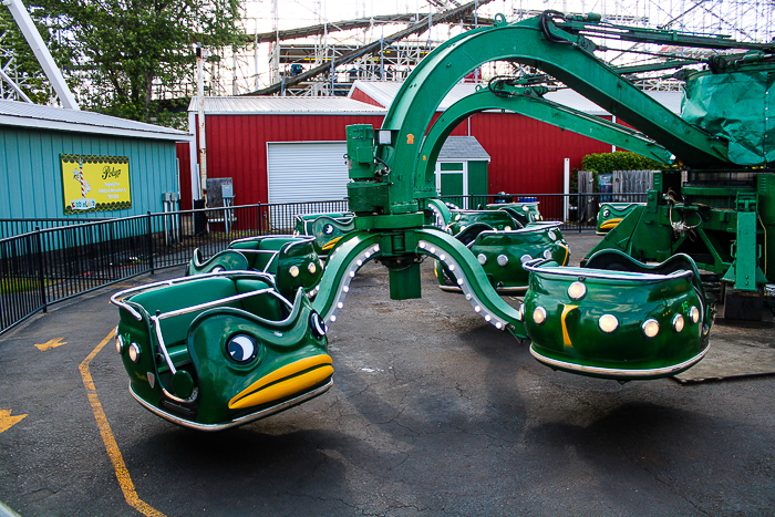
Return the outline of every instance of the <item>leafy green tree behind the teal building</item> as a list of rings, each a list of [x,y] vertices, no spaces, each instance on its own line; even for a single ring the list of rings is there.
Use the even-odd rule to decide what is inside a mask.
[[[31,14],[62,49],[59,62],[90,110],[149,121],[153,89],[194,77],[194,44],[230,45],[239,0],[30,0]],[[45,37],[44,37],[45,38]],[[56,55],[55,55],[56,59]]]

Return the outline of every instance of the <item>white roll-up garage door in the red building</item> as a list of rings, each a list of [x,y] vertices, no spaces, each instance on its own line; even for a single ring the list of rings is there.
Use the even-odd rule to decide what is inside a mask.
[[[267,144],[269,203],[329,201],[348,195],[344,142]]]

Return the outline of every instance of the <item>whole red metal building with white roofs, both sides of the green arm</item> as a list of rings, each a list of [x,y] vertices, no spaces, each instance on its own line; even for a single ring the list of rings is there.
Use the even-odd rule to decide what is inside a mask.
[[[207,176],[231,177],[237,205],[312,200],[316,196],[322,200],[326,195],[341,198],[347,183],[343,159],[337,162],[335,170],[327,161],[338,161],[343,154],[338,153],[344,147],[345,126],[366,123],[379,127],[400,87],[397,82],[356,81],[348,99],[206,97]],[[474,87],[455,85],[438,112],[473,93]],[[679,93],[655,92],[654,96],[678,112]],[[611,120],[610,114],[570,90],[547,97]],[[192,127],[196,127],[197,107],[194,100],[189,107]],[[587,154],[611,151],[611,145],[509,112],[473,115],[452,134],[476,137],[489,154],[490,193],[562,193],[565,158],[574,168],[581,166]],[[186,154],[183,148],[178,153]],[[188,156],[196,155],[180,156],[180,163]],[[341,183],[341,188],[330,188],[327,177]],[[182,206],[190,207],[190,186],[196,187],[196,178],[182,177],[180,185]]]

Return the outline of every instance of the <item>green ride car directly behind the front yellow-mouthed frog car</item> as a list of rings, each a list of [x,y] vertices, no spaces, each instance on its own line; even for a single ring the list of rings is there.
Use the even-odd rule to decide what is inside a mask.
[[[300,287],[311,292],[323,275],[323,261],[308,236],[265,235],[238,239],[205,260],[199,248],[186,267],[186,275],[218,271],[261,271],[275,277],[277,289],[292,298]]]

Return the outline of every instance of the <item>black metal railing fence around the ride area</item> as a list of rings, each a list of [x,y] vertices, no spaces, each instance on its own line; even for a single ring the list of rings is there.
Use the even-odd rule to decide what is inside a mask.
[[[578,220],[580,204],[597,195],[468,196],[448,198],[462,207],[538,200],[544,219],[562,229],[593,229]],[[196,248],[205,256],[256,235],[290,234],[297,214],[347,211],[347,200],[250,205],[183,210],[121,219],[0,220],[0,333],[49,306],[156,269],[187,263]],[[183,273],[183,270],[180,271]]]

